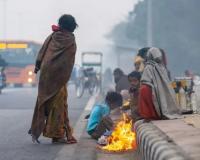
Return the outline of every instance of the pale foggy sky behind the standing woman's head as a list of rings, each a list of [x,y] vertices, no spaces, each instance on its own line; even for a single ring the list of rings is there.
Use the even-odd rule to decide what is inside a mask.
[[[78,50],[106,43],[104,35],[123,21],[138,0],[0,0],[0,39],[43,42],[51,33],[51,25],[63,13],[72,14],[79,24],[76,30]]]

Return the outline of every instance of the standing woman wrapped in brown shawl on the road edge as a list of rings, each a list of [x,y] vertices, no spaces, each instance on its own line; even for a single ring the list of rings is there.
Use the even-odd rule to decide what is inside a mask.
[[[73,16],[62,15],[37,56],[35,73],[40,70],[40,78],[30,130],[33,142],[39,143],[43,132],[53,143],[76,143],[68,119],[66,88],[75,60],[76,27]]]

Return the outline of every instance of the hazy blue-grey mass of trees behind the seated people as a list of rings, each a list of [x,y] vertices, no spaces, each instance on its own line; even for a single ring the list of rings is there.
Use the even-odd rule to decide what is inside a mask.
[[[140,1],[127,20],[114,27],[110,37],[115,44],[131,42],[136,49],[163,48],[173,77],[184,76],[185,70],[200,74],[199,6],[199,0]],[[148,33],[152,35],[151,45]]]

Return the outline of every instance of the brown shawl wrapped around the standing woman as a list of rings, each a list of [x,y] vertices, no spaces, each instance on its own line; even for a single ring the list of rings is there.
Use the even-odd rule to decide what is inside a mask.
[[[38,105],[54,96],[69,80],[76,53],[73,33],[57,31],[44,42],[37,60],[40,68]]]

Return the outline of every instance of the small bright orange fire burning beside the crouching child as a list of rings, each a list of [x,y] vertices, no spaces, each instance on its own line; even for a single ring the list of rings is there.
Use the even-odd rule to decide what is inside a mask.
[[[108,144],[102,147],[103,150],[120,152],[136,149],[136,135],[132,131],[132,121],[126,114],[123,114],[123,119],[116,124],[107,140]]]

